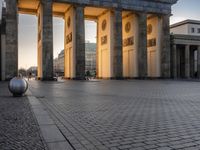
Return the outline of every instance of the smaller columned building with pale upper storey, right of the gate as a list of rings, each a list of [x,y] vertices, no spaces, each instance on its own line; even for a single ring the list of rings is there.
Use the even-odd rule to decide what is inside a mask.
[[[174,78],[200,78],[200,21],[171,25],[171,74]]]

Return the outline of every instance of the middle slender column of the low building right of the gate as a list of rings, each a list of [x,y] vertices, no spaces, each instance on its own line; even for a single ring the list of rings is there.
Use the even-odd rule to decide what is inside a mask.
[[[190,45],[185,46],[185,78],[190,78]]]

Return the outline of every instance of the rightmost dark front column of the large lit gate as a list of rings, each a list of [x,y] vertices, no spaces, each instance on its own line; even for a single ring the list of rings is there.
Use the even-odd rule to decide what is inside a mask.
[[[161,77],[170,78],[170,27],[169,15],[163,15],[162,18],[162,46],[161,46]]]

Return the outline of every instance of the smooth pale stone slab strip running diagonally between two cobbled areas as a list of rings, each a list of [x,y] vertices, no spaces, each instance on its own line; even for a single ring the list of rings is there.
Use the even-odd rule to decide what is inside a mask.
[[[28,93],[31,93],[30,90]],[[29,94],[28,94],[29,95]],[[32,95],[32,94],[30,94]],[[48,111],[34,96],[27,96],[34,116],[39,124],[41,134],[49,150],[73,150],[65,137],[62,135]]]

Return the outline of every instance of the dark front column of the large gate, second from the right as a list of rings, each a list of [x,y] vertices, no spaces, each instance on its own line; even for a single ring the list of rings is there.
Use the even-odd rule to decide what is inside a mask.
[[[138,14],[138,77],[147,77],[147,14]]]

